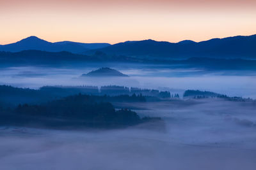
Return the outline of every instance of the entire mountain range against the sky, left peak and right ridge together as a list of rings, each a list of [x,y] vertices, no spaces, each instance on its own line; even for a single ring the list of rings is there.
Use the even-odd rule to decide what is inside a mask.
[[[170,43],[166,41],[125,41],[110,45],[108,43],[76,43],[61,41],[50,43],[31,36],[17,43],[0,45],[0,51],[20,52],[40,50],[47,52],[79,53],[85,55],[133,57],[136,59],[189,59],[191,57],[211,57],[219,59],[256,59],[256,34],[252,36],[234,36],[214,38],[196,43],[191,40]]]

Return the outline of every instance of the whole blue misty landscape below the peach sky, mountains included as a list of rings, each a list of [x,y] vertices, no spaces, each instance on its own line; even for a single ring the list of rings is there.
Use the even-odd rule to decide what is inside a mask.
[[[253,170],[254,42],[0,46],[0,169]]]

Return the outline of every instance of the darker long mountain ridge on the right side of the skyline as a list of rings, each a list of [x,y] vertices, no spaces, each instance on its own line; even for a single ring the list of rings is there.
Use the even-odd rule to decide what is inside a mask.
[[[104,52],[107,55],[127,55],[147,59],[188,59],[191,57],[256,59],[256,34],[221,39],[214,38],[198,43],[190,40],[180,41],[179,43],[154,41],[152,39],[126,41],[86,53],[90,54],[95,51]]]

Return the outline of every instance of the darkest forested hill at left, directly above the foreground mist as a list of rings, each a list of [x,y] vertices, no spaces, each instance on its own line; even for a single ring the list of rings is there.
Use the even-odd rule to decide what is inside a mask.
[[[44,104],[19,104],[0,109],[0,125],[47,128],[118,128],[160,120],[140,118],[127,109],[115,110],[111,98],[76,95]]]

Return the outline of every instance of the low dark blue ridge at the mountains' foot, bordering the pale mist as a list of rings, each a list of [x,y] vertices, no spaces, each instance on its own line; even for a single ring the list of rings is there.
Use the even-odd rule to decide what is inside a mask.
[[[88,64],[88,62],[168,64],[173,67],[199,67],[211,70],[256,69],[256,60],[249,59],[212,59],[207,57],[195,57],[182,60],[170,60],[161,57],[158,59],[138,59],[138,57],[106,55],[100,52],[96,52],[93,55],[81,55],[70,52],[43,52],[38,50],[26,50],[15,53],[0,52],[0,66],[41,66],[42,64],[45,66],[74,66],[74,64]]]

